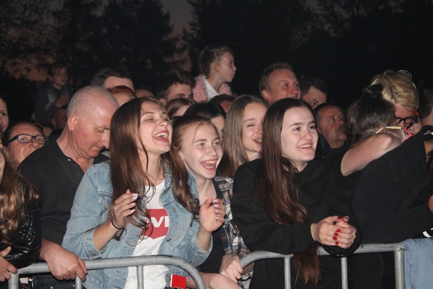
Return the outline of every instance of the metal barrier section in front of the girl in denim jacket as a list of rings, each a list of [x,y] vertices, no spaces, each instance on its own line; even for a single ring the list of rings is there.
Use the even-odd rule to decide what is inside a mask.
[[[203,278],[199,271],[182,258],[166,255],[151,255],[151,256],[136,256],[136,257],[121,257],[121,258],[106,258],[95,260],[84,260],[87,270],[122,268],[122,267],[137,267],[138,289],[144,289],[143,282],[143,266],[149,265],[173,265],[176,266],[193,278],[198,289],[206,289]],[[37,263],[18,270],[18,274],[11,274],[9,279],[9,289],[19,289],[20,274],[40,274],[50,272],[46,263]],[[75,278],[75,288],[81,289],[81,280]]]

